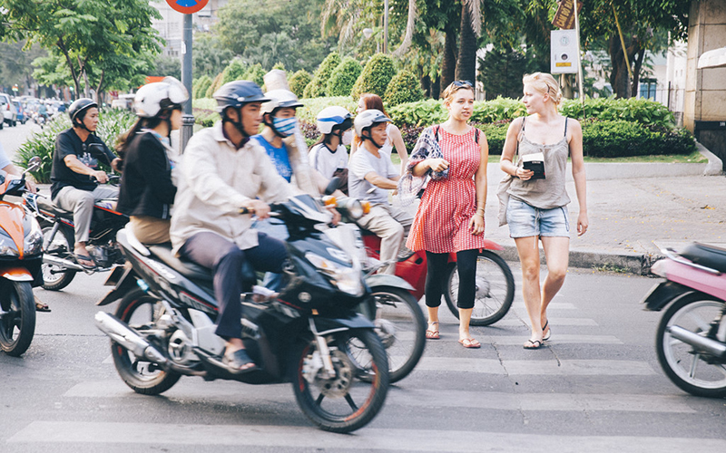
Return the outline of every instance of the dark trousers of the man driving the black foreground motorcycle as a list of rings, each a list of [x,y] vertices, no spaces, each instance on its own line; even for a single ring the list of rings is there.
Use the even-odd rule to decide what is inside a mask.
[[[222,338],[241,338],[240,294],[255,284],[254,270],[282,272],[288,256],[285,243],[258,233],[259,245],[240,250],[234,242],[214,233],[197,233],[179,250],[180,255],[214,273],[214,296],[219,304],[216,333]]]

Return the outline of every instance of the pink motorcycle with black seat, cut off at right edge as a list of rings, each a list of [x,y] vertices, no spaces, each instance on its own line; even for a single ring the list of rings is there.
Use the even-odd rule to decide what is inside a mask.
[[[663,313],[655,337],[658,361],[682,390],[726,396],[726,249],[693,243],[651,269],[665,278],[643,298],[646,310]]]

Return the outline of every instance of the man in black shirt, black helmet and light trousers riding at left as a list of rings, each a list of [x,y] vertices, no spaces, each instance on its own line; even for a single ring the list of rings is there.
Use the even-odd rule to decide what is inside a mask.
[[[57,207],[74,213],[74,255],[78,264],[93,268],[95,264],[85,248],[93,204],[103,198],[114,198],[118,192],[115,188],[99,186],[99,183],[107,182],[108,177],[98,168],[98,160],[89,152],[89,145],[102,145],[113,169],[118,169],[121,159],[94,133],[98,126],[98,104],[95,101],[88,98],[74,101],[68,114],[73,127],[58,134],[55,140],[51,195]]]

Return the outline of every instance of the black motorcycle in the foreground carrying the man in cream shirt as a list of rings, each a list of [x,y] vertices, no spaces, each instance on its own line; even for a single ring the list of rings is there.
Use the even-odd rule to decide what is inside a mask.
[[[259,370],[234,374],[222,363],[210,271],[177,259],[168,246],[142,246],[126,229],[118,242],[127,264],[114,270],[107,283],[115,287],[99,304],[122,301],[115,315],[97,313],[96,323],[112,339],[119,375],[139,393],[162,393],[182,375],[289,381],[319,428],[359,429],[382,408],[389,381],[373,323],[354,312],[370,296],[358,259],[320,231],[332,217],[315,199],[300,195],[271,207],[289,227],[287,283],[273,300],[241,295],[243,342]]]

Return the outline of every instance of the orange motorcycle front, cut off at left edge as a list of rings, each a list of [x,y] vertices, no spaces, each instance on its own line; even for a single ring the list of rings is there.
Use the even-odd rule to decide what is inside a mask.
[[[35,332],[33,287],[42,283],[43,234],[34,217],[5,196],[22,197],[25,175],[40,166],[30,159],[20,177],[0,171],[0,348],[19,356],[27,351]]]

